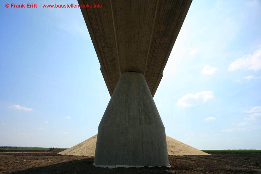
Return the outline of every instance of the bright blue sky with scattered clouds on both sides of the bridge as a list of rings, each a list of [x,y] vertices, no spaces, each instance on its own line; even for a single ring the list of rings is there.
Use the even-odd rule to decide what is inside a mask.
[[[33,1],[0,4],[0,146],[69,148],[97,134],[110,95],[81,10],[6,3]],[[192,2],[154,96],[166,135],[261,149],[260,21],[261,1]]]

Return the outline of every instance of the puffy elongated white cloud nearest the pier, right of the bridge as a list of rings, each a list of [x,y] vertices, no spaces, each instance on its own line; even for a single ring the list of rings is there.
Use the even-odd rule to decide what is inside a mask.
[[[201,91],[197,94],[187,94],[181,97],[176,105],[189,107],[205,104],[208,99],[214,98],[213,93],[213,91]]]

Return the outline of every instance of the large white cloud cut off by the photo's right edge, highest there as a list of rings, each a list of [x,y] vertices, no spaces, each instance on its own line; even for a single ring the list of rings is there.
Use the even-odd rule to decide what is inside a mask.
[[[229,65],[228,71],[235,70],[260,70],[261,69],[261,48],[251,55],[245,55]]]

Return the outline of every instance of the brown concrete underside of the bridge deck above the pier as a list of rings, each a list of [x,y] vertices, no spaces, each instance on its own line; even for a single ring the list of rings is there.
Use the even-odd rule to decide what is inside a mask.
[[[154,96],[192,0],[78,1],[102,4],[81,11],[110,95],[121,74],[133,71]]]

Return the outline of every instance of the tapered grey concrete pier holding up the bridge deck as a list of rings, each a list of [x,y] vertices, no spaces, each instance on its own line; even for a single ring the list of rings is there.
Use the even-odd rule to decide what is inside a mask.
[[[99,124],[94,165],[169,166],[165,128],[141,73],[122,73]]]

